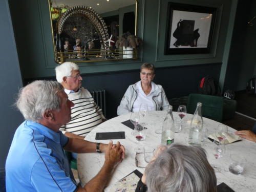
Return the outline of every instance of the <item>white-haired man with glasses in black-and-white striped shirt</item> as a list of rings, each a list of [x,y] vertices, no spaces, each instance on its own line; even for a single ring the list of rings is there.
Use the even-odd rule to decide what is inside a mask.
[[[69,100],[74,103],[71,108],[71,121],[62,125],[60,131],[67,137],[84,139],[94,127],[105,121],[102,110],[90,92],[81,87],[82,77],[75,63],[64,62],[55,68],[55,72],[57,81],[62,84]]]

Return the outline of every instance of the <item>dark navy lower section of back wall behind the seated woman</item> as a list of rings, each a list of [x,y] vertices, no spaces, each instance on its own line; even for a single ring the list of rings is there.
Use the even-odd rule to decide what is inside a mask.
[[[161,84],[168,99],[197,93],[199,79],[209,74],[219,78],[221,63],[156,69],[154,82]],[[83,74],[82,86],[89,90],[106,90],[106,117],[115,117],[117,106],[130,84],[140,80],[139,69],[97,74]],[[55,77],[47,79],[55,80]],[[31,81],[33,79],[29,79]]]

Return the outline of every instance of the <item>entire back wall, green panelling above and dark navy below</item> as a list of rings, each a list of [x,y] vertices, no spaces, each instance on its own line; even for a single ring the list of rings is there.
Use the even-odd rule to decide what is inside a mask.
[[[18,0],[9,2],[22,73],[26,81],[54,78],[57,64],[53,57],[47,1],[25,0],[18,7]],[[217,8],[214,40],[209,54],[163,54],[168,2]],[[139,80],[138,69],[143,62],[154,63],[157,68],[155,80],[164,86],[168,98],[197,92],[198,81],[205,75],[220,79],[222,86],[236,7],[236,0],[139,0],[138,36],[143,39],[140,59],[79,63],[84,86],[89,89],[106,89],[108,118],[116,115],[116,108],[127,86]],[[21,23],[20,19],[24,22]]]

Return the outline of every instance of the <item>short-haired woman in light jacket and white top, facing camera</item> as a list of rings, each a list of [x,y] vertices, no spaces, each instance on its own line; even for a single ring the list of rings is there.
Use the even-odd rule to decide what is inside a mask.
[[[129,86],[120,105],[117,115],[138,112],[141,103],[146,103],[149,111],[167,111],[169,102],[165,92],[159,84],[153,82],[155,67],[151,63],[144,63],[140,68],[140,81]]]

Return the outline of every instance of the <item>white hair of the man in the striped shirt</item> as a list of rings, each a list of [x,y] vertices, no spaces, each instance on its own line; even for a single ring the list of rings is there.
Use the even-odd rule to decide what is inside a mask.
[[[74,62],[63,62],[61,65],[55,68],[56,79],[59,83],[62,83],[63,77],[70,76],[72,70],[78,70],[79,67]]]

